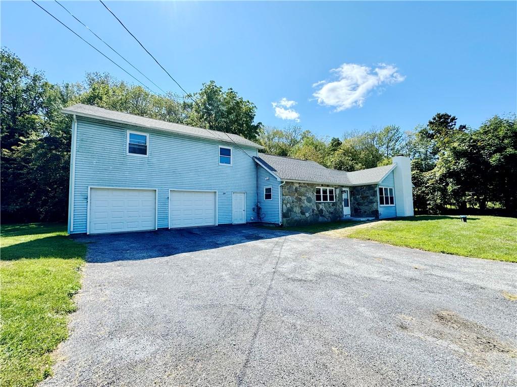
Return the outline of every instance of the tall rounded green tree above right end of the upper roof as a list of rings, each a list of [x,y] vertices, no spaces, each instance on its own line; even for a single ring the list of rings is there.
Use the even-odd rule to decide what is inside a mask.
[[[253,123],[256,106],[242,99],[232,88],[223,91],[211,80],[194,94],[187,122],[210,130],[233,133],[256,140],[262,132],[262,123]]]

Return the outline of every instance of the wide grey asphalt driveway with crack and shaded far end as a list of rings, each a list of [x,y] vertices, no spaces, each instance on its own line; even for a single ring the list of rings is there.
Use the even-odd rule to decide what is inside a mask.
[[[517,384],[515,264],[251,226],[86,240],[41,385]]]

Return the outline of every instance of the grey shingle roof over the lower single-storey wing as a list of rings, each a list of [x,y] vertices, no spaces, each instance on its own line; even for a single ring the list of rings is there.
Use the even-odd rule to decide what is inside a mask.
[[[395,166],[392,164],[355,172],[345,172],[325,168],[324,166],[309,160],[273,156],[267,153],[258,153],[258,157],[255,158],[260,164],[276,174],[281,180],[337,185],[377,184]]]

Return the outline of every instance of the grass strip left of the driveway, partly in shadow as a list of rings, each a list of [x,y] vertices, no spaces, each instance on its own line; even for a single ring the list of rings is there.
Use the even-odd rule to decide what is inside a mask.
[[[0,241],[0,385],[33,386],[68,337],[86,247],[52,223],[3,225]]]

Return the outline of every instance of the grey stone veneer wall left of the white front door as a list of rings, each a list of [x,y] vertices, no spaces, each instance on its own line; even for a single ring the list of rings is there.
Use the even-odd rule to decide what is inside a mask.
[[[343,217],[341,187],[334,188],[334,202],[317,202],[322,184],[285,182],[282,186],[282,223],[285,226],[330,222]]]

